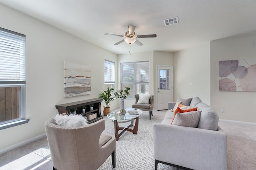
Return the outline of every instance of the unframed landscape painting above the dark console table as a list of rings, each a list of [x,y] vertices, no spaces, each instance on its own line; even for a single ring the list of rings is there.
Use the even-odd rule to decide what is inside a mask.
[[[90,66],[64,61],[64,97],[91,93]]]

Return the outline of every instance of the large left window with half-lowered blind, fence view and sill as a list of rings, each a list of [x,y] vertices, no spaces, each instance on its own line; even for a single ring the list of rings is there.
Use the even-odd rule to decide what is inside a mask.
[[[0,129],[27,123],[25,38],[0,28]]]

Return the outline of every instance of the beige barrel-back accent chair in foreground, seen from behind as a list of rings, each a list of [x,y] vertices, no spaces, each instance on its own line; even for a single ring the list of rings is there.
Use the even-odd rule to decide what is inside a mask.
[[[101,119],[80,127],[59,126],[54,117],[45,122],[53,170],[96,170],[112,155],[116,166],[116,140],[102,133]]]

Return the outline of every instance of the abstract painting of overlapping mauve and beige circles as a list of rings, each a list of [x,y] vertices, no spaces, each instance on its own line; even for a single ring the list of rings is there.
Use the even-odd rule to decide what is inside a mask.
[[[256,92],[256,58],[219,62],[219,90]]]

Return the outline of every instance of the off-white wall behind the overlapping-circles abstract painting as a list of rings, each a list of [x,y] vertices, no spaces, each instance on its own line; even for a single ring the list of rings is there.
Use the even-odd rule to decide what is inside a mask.
[[[256,92],[220,92],[219,61],[256,57],[256,36],[211,41],[211,106],[220,119],[256,122]],[[220,109],[224,113],[220,113]]]

